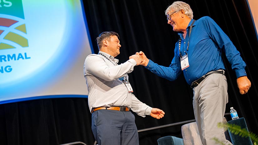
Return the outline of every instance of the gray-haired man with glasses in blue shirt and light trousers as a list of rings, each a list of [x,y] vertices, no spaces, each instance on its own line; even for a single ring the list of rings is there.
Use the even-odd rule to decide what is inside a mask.
[[[168,24],[180,36],[175,44],[175,56],[169,67],[158,65],[140,51],[141,65],[156,75],[174,81],[182,72],[186,82],[193,88],[195,120],[204,145],[215,144],[217,138],[225,144],[223,121],[228,102],[225,66],[221,53],[225,53],[237,77],[241,94],[247,93],[251,82],[246,77],[245,62],[229,37],[208,16],[193,19],[193,12],[185,2],[174,2],[165,11]]]

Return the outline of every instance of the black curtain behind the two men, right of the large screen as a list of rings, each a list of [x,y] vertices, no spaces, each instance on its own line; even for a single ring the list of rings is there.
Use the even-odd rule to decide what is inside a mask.
[[[120,35],[120,63],[124,63],[135,52],[143,51],[155,63],[169,66],[174,57],[178,35],[167,24],[164,11],[174,0],[84,0],[84,9],[89,26],[89,34],[98,53],[96,37],[103,31],[115,31]],[[240,95],[235,72],[225,56],[224,62],[228,79],[229,103],[226,113],[233,106],[240,117],[245,117],[248,129],[258,133],[257,113],[257,37],[250,11],[245,0],[185,0],[194,12],[194,19],[210,16],[230,37],[246,62],[246,73],[252,87],[245,95]],[[158,77],[142,66],[134,67],[129,81],[135,96],[144,103],[163,109],[165,117],[156,120],[136,115],[138,129],[170,124],[194,119],[193,91],[183,74],[173,82]],[[225,116],[231,119],[230,115]],[[140,132],[140,144],[157,144],[156,139],[165,135],[181,137],[181,125]]]

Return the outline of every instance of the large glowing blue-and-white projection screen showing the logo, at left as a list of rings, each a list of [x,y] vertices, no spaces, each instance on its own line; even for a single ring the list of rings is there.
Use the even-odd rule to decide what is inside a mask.
[[[0,104],[87,97],[89,42],[80,0],[1,0]]]

